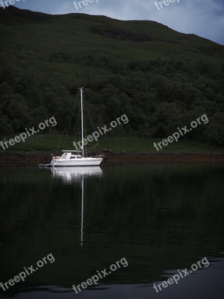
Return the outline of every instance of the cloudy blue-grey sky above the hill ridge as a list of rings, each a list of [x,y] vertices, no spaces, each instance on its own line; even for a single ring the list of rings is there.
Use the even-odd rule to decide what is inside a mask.
[[[86,6],[81,4],[79,10],[74,0],[18,0],[15,6],[51,14],[82,12],[121,20],[153,20],[176,31],[194,33],[224,44],[224,0],[171,0],[174,2],[167,6],[162,4],[159,10],[155,0],[91,1]]]

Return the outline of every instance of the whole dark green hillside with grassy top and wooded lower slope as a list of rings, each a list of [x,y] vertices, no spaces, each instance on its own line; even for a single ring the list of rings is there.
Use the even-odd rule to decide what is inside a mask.
[[[83,86],[96,126],[125,113],[120,132],[160,138],[206,114],[186,138],[224,143],[224,46],[154,21],[0,8],[0,83],[2,136],[63,130]]]

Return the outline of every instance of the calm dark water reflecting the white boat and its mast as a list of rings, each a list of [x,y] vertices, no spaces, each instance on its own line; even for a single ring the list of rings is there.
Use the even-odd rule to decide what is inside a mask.
[[[55,261],[0,298],[223,299],[223,173],[224,162],[1,165],[0,282]],[[123,257],[127,267],[72,290]],[[153,289],[204,257],[209,267]]]

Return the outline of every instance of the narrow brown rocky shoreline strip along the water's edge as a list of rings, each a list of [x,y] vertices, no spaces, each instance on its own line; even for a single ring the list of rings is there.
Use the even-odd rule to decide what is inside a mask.
[[[224,161],[224,152],[218,153],[134,153],[134,152],[109,152],[104,153],[104,161]],[[0,152],[0,162],[50,162],[51,154],[47,152]]]

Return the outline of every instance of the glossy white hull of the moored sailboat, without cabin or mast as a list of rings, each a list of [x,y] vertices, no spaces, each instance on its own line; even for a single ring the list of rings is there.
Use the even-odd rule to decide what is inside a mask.
[[[81,158],[81,159],[64,159],[58,158],[51,161],[52,166],[99,166],[103,158]]]

